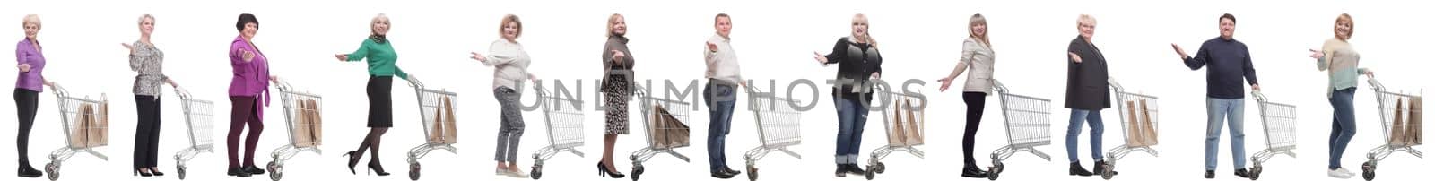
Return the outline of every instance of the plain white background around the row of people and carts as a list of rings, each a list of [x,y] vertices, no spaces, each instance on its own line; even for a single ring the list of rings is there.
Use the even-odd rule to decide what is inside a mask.
[[[112,101],[110,145],[99,148],[110,161],[77,155],[63,167],[63,180],[131,178],[131,139],[133,131],[133,102],[131,83],[133,73],[126,68],[126,50],[119,43],[138,39],[136,19],[149,13],[158,17],[154,43],[166,53],[166,73],[201,99],[218,102],[215,112],[220,149],[201,154],[189,162],[189,180],[235,180],[224,172],[224,129],[227,129],[227,86],[230,68],[225,50],[237,36],[232,29],[240,13],[254,13],[261,22],[254,39],[271,59],[274,75],[296,86],[321,93],[326,99],[326,151],[323,155],[300,154],[287,162],[288,180],[403,180],[405,151],[420,144],[416,129],[419,113],[413,89],[395,83],[395,128],[383,142],[383,162],[390,177],[343,175],[344,158],[339,154],[353,149],[363,138],[367,109],[363,86],[364,63],[340,63],[333,53],[347,53],[367,36],[367,23],[377,13],[387,13],[393,22],[389,37],[400,55],[399,66],[422,78],[426,85],[446,88],[461,95],[459,118],[464,121],[462,148],[458,155],[435,152],[420,159],[425,180],[517,180],[495,177],[492,151],[497,131],[498,103],[492,98],[492,68],[466,59],[468,52],[486,50],[498,39],[497,26],[502,14],[514,13],[524,20],[524,37],[534,57],[531,72],[542,79],[573,82],[585,79],[587,108],[598,101],[591,93],[593,79],[601,75],[598,55],[603,46],[607,14],[623,13],[631,37],[630,47],[637,57],[641,79],[700,79],[703,72],[700,42],[712,36],[716,13],[733,16],[733,46],[743,63],[743,76],[751,79],[814,79],[821,95],[817,109],[804,113],[804,145],[795,149],[804,159],[772,155],[759,162],[763,180],[860,180],[832,177],[832,149],[837,129],[835,115],[824,79],[832,78],[834,66],[812,62],[814,50],[827,53],[832,42],[848,34],[848,20],[854,13],[871,19],[871,34],[880,40],[885,56],[884,78],[923,79],[921,90],[934,102],[928,111],[927,158],[901,152],[885,159],[887,174],[878,180],[950,180],[961,167],[960,136],[966,106],[960,93],[937,93],[937,78],[956,66],[967,36],[967,17],[982,13],[990,23],[990,37],[997,52],[996,79],[1013,93],[1050,98],[1053,145],[1039,147],[1052,155],[1043,161],[1019,154],[1006,161],[1003,180],[1076,180],[1066,175],[1065,134],[1069,111],[1065,101],[1065,46],[1076,37],[1076,16],[1086,13],[1098,20],[1095,43],[1105,52],[1111,76],[1128,89],[1161,96],[1161,139],[1157,149],[1162,157],[1135,154],[1121,159],[1115,180],[1203,180],[1203,139],[1205,124],[1204,69],[1190,70],[1171,52],[1170,43],[1180,43],[1194,53],[1200,43],[1215,37],[1217,17],[1233,13],[1238,19],[1236,39],[1251,49],[1254,65],[1267,96],[1299,106],[1300,158],[1277,157],[1266,164],[1266,180],[1335,180],[1325,177],[1330,106],[1326,101],[1326,72],[1314,69],[1307,49],[1317,49],[1333,36],[1332,24],[1340,13],[1355,17],[1356,33],[1352,45],[1363,55],[1360,66],[1378,72],[1378,78],[1395,90],[1419,93],[1429,88],[1426,43],[1435,40],[1435,30],[1421,17],[1431,17],[1421,4],[1392,1],[6,1],[0,3],[0,17],[11,27],[0,29],[7,42],[19,42],[19,27],[24,14],[40,14],[40,42],[49,59],[46,78],[65,85],[75,93],[108,93]],[[0,49],[13,49],[0,43]],[[13,70],[13,69],[11,69]],[[14,73],[0,73],[13,79]],[[966,79],[959,78],[959,79]],[[765,83],[762,83],[765,85]],[[953,85],[960,88],[961,85]],[[762,89],[772,89],[761,86]],[[806,88],[799,88],[798,99],[811,101]],[[164,98],[164,139],[159,168],[174,174],[172,152],[185,148],[184,118],[178,99],[166,90]],[[1383,136],[1375,113],[1375,93],[1360,80],[1356,92],[1358,134],[1345,154],[1343,167],[1359,171],[1365,152],[1380,145]],[[532,101],[525,90],[525,102]],[[270,106],[257,162],[270,161],[268,152],[287,142],[281,109]],[[1004,132],[997,99],[987,99],[987,116],[977,135],[979,165],[990,165],[989,151],[1004,144]],[[740,105],[740,103],[739,103]],[[10,103],[0,103],[0,115],[14,115]],[[634,106],[636,109],[636,106]],[[1257,103],[1246,103],[1247,154],[1264,149]],[[1106,135],[1104,149],[1122,142],[1119,118],[1105,109]],[[40,96],[40,111],[30,138],[30,158],[43,167],[46,152],[63,147],[55,96],[46,90]],[[872,112],[867,125],[862,157],[883,145],[883,124]],[[540,112],[525,113],[528,128],[519,148],[519,164],[532,162],[531,151],[547,145],[547,132]],[[742,168],[742,151],[756,147],[752,113],[739,106],[729,135],[729,164]],[[578,158],[558,155],[545,168],[544,180],[596,180],[593,162],[601,154],[603,113],[587,112],[588,155]],[[693,145],[679,152],[693,158],[682,162],[672,157],[657,157],[649,162],[644,180],[712,180],[707,177],[705,151],[706,112],[693,112]],[[631,135],[620,136],[616,158],[623,172],[630,172],[626,161],[631,151],[644,147],[641,124],[630,124]],[[0,122],[6,135],[13,134],[13,121]],[[1086,129],[1086,128],[1082,128]],[[1228,128],[1227,128],[1228,129]],[[1220,152],[1218,180],[1231,175],[1230,145],[1224,141]],[[1081,136],[1079,158],[1091,168],[1086,134]],[[11,139],[0,145],[13,145]],[[1424,148],[1424,147],[1422,147]],[[10,152],[13,149],[4,149]],[[13,161],[14,154],[0,154],[0,161]],[[1250,155],[1247,155],[1250,157]],[[1248,159],[1248,158],[1241,158]],[[865,159],[864,159],[865,162]],[[1396,154],[1380,162],[1382,180],[1412,180],[1426,177],[1429,159]],[[10,170],[13,167],[3,167]],[[267,175],[265,175],[267,177]],[[740,178],[740,177],[739,177]],[[151,180],[133,177],[131,180]],[[174,180],[166,175],[162,180]],[[248,178],[263,180],[263,178]],[[524,178],[527,180],[527,178]],[[627,180],[627,178],[624,178]],[[1099,180],[1086,177],[1079,180]],[[1358,178],[1352,178],[1358,180]]]

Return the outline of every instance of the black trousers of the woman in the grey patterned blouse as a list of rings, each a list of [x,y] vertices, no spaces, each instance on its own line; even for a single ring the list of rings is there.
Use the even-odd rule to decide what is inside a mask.
[[[135,95],[135,170],[155,168],[159,162],[159,99]]]

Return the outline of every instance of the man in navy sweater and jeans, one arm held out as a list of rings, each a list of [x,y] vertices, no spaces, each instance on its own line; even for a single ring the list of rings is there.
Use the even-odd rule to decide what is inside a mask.
[[[1246,92],[1241,80],[1251,85],[1251,90],[1260,90],[1256,83],[1256,68],[1251,66],[1251,53],[1233,37],[1236,33],[1236,16],[1223,14],[1220,19],[1221,37],[1205,40],[1195,57],[1185,55],[1185,50],[1175,43],[1171,47],[1181,55],[1181,60],[1191,70],[1205,66],[1205,178],[1215,178],[1215,149],[1220,148],[1223,119],[1231,128],[1231,159],[1236,165],[1236,175],[1250,178],[1246,171],[1246,132],[1243,118],[1246,116]]]

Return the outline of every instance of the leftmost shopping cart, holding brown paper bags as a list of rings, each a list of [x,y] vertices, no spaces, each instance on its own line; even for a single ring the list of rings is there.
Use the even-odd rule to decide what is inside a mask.
[[[103,93],[100,93],[100,99],[99,101],[89,99],[88,96],[85,96],[85,98],[73,96],[73,95],[70,95],[69,90],[65,90],[65,88],[60,88],[60,85],[52,85],[50,90],[53,90],[55,96],[60,99],[60,103],[59,103],[60,105],[60,118],[63,119],[60,122],[62,124],[60,128],[65,129],[65,142],[67,142],[67,145],[63,147],[63,148],[50,151],[50,164],[44,164],[44,172],[46,172],[44,175],[49,177],[50,181],[59,180],[60,178],[60,162],[65,162],[65,161],[70,159],[70,157],[75,157],[76,154],[90,154],[90,155],[95,155],[99,159],[109,161],[109,157],[105,157],[105,154],[99,154],[98,151],[95,151],[96,147],[109,145],[108,141],[103,142],[103,144],[95,145],[95,144],[90,144],[85,138],[75,138],[75,136],[70,135],[75,131],[86,131],[88,132],[88,131],[93,131],[93,129],[108,129],[108,126],[85,126],[85,125],[89,125],[89,124],[82,124],[80,122],[80,121],[88,119],[88,118],[100,119],[100,121],[108,119],[109,115],[96,113],[96,112],[83,112],[85,109],[80,108],[80,106],[90,106],[92,108],[90,111],[93,111],[93,106],[100,106],[100,105],[105,105],[108,102],[106,96]],[[88,115],[82,115],[82,113],[88,113]],[[102,132],[108,132],[108,131],[102,131]]]

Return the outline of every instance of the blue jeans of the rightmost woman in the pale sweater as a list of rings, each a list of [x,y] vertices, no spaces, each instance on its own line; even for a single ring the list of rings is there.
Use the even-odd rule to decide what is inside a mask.
[[[1355,88],[1340,89],[1330,93],[1330,108],[1335,116],[1330,118],[1330,170],[1340,168],[1340,155],[1350,136],[1355,136]]]

